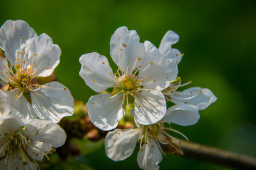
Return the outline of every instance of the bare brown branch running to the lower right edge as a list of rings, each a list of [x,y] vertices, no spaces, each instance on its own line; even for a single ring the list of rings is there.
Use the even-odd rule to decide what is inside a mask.
[[[214,164],[221,164],[236,169],[256,169],[256,159],[253,157],[227,152],[190,141],[180,140],[180,143],[177,143],[177,145],[184,151],[184,157],[206,160]],[[168,147],[164,146],[164,150],[168,151]]]

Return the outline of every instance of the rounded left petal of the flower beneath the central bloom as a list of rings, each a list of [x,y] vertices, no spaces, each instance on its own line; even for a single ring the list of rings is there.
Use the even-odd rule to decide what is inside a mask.
[[[105,138],[106,155],[115,161],[131,156],[139,138],[138,129],[115,129]]]

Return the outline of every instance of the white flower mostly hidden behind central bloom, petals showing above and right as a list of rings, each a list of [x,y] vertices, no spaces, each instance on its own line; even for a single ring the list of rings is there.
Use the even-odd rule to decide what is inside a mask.
[[[173,59],[179,64],[182,59],[183,53],[180,53],[179,50],[172,48],[172,45],[179,41],[179,35],[173,31],[167,31],[164,35],[161,43],[159,45],[159,49],[156,48],[149,41],[145,41],[146,50],[149,52],[160,52],[164,56]],[[172,101],[175,104],[189,104],[194,106],[198,110],[204,110],[210,104],[216,101],[216,97],[209,89],[202,89],[200,87],[192,87],[184,90],[183,92],[177,91],[179,87],[183,87],[191,83],[181,84],[181,79],[178,77],[175,81],[173,81],[167,89],[163,90],[164,96],[166,96],[167,101]]]

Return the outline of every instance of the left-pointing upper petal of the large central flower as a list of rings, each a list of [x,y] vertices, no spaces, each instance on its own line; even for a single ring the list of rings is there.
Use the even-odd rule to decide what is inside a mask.
[[[115,75],[109,66],[108,59],[99,53],[86,53],[79,59],[82,65],[79,75],[95,92],[102,92],[114,87]]]

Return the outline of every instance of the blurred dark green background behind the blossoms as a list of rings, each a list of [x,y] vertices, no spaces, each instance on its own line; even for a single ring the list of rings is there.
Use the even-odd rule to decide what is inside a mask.
[[[78,59],[99,52],[111,60],[109,40],[116,28],[135,29],[142,42],[147,39],[156,46],[166,31],[177,32],[180,41],[173,47],[185,53],[179,76],[184,82],[193,80],[189,87],[211,89],[218,100],[200,111],[198,124],[175,129],[191,141],[256,157],[255,2],[12,0],[1,1],[0,23],[22,19],[38,34],[49,34],[62,51],[55,71],[58,80],[84,103],[95,92],[79,77]],[[83,157],[51,169],[139,169],[138,148],[129,159],[113,162],[101,143],[94,150],[85,147],[88,152],[85,148]],[[227,169],[172,155],[159,165],[161,169]]]

